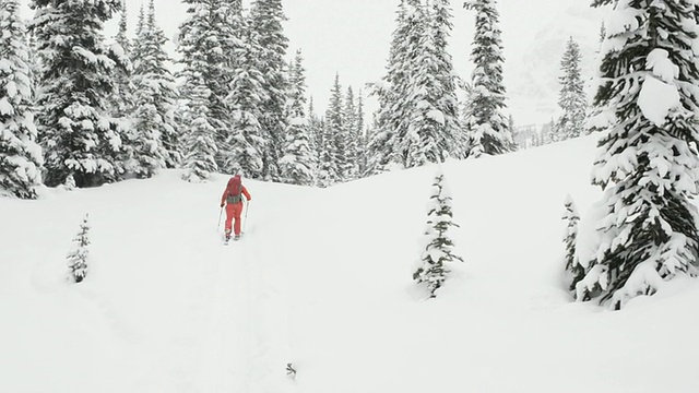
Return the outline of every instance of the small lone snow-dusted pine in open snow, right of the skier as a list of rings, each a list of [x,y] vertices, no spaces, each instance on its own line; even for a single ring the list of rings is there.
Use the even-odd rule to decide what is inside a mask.
[[[453,254],[454,243],[449,238],[450,227],[459,227],[452,222],[451,192],[441,170],[435,177],[433,193],[427,205],[427,227],[425,229],[425,251],[422,254],[420,265],[413,273],[413,279],[418,284],[425,284],[429,297],[437,297],[439,289],[449,274],[448,262],[461,261],[461,257]]]

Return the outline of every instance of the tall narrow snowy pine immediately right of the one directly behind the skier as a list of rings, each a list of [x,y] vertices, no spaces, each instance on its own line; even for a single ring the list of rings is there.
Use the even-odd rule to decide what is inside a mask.
[[[258,70],[264,75],[263,102],[260,123],[266,140],[263,155],[263,174],[268,180],[279,180],[279,160],[283,154],[284,109],[286,106],[286,78],[284,70],[288,38],[284,35],[286,21],[282,0],[253,0],[250,10],[251,33],[259,45]]]

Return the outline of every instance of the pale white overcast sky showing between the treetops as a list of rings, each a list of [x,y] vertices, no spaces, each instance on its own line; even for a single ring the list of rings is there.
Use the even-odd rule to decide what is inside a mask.
[[[147,0],[127,0],[130,29],[135,27],[142,3],[147,5]],[[399,0],[284,1],[288,56],[298,48],[303,50],[308,93],[315,97],[318,112],[324,111],[336,72],[343,87],[352,85],[355,93],[383,75],[398,3]],[[452,2],[454,31],[450,50],[455,72],[469,79],[473,12],[462,4],[461,0]],[[177,35],[187,7],[176,0],[155,0],[156,16],[167,37]],[[557,108],[558,62],[564,43],[572,35],[581,41],[584,56],[585,47],[596,43],[600,12],[591,10],[589,1],[580,0],[499,0],[498,10],[506,57],[505,83],[516,121],[548,121]],[[114,34],[116,21],[108,29],[107,36]],[[168,49],[174,52],[173,45]],[[583,61],[589,62],[583,69],[591,70],[591,56]],[[371,109],[371,100],[367,104]]]

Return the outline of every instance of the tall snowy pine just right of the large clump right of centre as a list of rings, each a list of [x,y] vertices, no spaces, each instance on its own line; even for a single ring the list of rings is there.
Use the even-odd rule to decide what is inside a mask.
[[[507,128],[505,86],[502,84],[502,39],[496,0],[470,0],[464,3],[476,13],[471,61],[475,68],[466,105],[469,156],[506,153],[511,134]]]

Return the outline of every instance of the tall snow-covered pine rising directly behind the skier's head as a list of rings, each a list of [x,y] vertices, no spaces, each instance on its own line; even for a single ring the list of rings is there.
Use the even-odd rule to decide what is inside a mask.
[[[270,142],[261,123],[266,97],[259,63],[262,52],[257,40],[259,35],[250,29],[240,1],[233,2],[229,26],[240,34],[240,39],[230,43],[232,53],[236,56],[228,59],[233,74],[225,104],[230,111],[230,130],[225,141],[226,152],[222,154],[224,168],[228,172],[239,169],[251,179],[263,179],[264,152]]]

